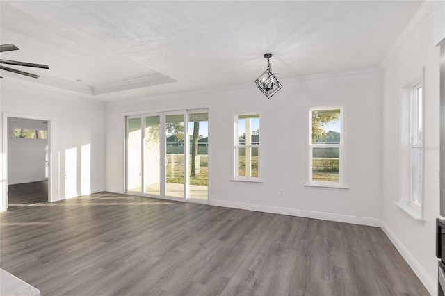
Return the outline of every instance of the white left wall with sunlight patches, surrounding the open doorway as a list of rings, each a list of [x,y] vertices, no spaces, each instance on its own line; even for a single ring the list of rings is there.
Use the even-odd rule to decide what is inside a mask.
[[[19,79],[1,81],[3,117],[50,119],[52,201],[104,190],[104,104],[78,98]]]

